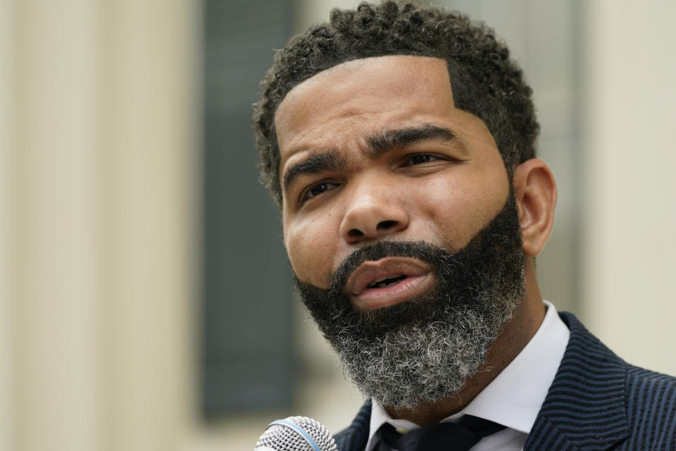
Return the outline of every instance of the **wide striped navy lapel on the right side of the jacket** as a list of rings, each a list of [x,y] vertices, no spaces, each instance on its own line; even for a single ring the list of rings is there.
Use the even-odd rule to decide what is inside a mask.
[[[570,340],[524,450],[606,450],[629,435],[627,364],[561,313]]]

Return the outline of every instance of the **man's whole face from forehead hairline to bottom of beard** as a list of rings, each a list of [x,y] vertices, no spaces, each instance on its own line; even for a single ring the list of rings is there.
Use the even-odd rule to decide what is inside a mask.
[[[456,395],[520,301],[524,256],[501,156],[446,63],[344,63],[275,125],[296,285],[348,376],[394,408]]]

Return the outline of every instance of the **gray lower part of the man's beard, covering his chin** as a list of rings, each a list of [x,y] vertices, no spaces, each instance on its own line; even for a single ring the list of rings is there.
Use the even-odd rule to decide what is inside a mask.
[[[477,299],[488,311],[459,307],[446,321],[409,326],[364,340],[346,333],[334,343],[344,374],[367,397],[394,409],[453,397],[481,366],[520,299],[520,290],[499,302]],[[477,305],[475,304],[475,305]]]

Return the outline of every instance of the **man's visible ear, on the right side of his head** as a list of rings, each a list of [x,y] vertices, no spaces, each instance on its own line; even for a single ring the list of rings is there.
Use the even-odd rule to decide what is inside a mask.
[[[534,257],[542,251],[554,224],[556,181],[547,163],[535,158],[516,166],[513,184],[523,252]]]

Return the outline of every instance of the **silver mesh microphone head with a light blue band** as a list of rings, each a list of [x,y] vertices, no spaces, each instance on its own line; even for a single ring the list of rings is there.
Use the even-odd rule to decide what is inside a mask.
[[[319,421],[289,416],[270,423],[253,451],[338,451],[338,447]]]

